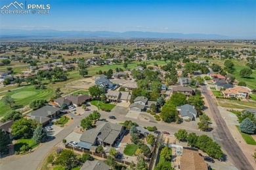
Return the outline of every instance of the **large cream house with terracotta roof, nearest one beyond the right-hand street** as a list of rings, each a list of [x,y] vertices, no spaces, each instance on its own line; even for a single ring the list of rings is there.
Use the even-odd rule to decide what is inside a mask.
[[[221,91],[221,93],[228,97],[249,98],[249,93],[251,93],[251,90],[247,87],[236,86],[226,89],[225,91]]]

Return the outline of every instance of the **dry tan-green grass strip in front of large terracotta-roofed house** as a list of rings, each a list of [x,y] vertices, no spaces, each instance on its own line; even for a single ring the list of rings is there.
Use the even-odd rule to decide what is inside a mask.
[[[219,106],[231,109],[256,108],[256,102],[244,102],[238,100],[216,99]]]

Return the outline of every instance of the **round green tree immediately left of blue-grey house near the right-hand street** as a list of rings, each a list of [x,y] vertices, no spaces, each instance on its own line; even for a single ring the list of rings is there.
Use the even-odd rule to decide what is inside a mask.
[[[161,109],[160,116],[163,119],[163,121],[171,123],[172,121],[176,121],[178,112],[175,106],[169,103],[165,103]]]

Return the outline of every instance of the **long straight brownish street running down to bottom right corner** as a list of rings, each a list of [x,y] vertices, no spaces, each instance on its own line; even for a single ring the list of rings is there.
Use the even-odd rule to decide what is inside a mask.
[[[228,130],[228,127],[226,126],[226,123],[224,122],[223,117],[221,117],[219,109],[215,105],[213,99],[211,98],[211,95],[209,95],[209,92],[205,86],[202,87],[202,94],[205,96],[207,102],[209,103],[209,110],[211,110],[213,118],[215,119],[215,123],[217,124],[217,134],[221,139],[220,142],[222,146],[228,153],[228,158],[232,159],[232,162],[234,163],[234,165],[236,165],[236,167],[238,167],[238,169],[253,169],[249,161],[246,159],[244,153],[232,137],[230,131]]]

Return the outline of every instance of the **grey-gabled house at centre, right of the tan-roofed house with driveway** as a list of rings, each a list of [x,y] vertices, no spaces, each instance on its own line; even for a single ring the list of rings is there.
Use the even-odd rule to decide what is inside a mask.
[[[137,96],[129,108],[131,111],[142,112],[146,108],[150,108],[151,104],[157,104],[157,102],[148,100],[144,96]]]

